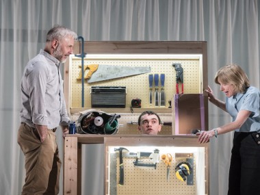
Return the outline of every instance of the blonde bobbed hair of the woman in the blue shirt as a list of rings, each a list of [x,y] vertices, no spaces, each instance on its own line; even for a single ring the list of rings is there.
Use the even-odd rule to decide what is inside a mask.
[[[248,76],[240,66],[237,64],[228,64],[223,66],[216,73],[215,83],[232,84],[235,87],[235,92],[244,93],[249,88],[250,83]]]

